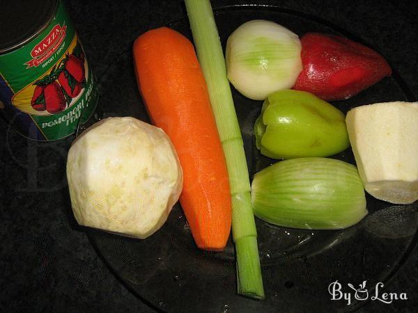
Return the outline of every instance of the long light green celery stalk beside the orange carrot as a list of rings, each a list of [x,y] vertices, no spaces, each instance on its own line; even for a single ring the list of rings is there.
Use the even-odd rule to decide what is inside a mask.
[[[224,148],[232,197],[232,232],[237,258],[238,294],[264,298],[256,224],[240,126],[210,0],[185,0],[197,56],[208,84],[212,111]]]

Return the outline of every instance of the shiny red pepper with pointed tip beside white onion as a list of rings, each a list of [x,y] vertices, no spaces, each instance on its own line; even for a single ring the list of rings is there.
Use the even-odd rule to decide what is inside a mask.
[[[327,101],[353,97],[392,74],[385,58],[353,40],[307,33],[301,43],[303,70],[293,89],[314,93]]]

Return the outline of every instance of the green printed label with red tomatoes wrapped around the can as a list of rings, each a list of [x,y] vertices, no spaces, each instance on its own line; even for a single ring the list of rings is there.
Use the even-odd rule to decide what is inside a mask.
[[[62,3],[47,28],[0,55],[0,111],[24,136],[53,141],[74,134],[98,102],[95,79]]]

